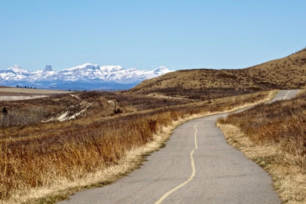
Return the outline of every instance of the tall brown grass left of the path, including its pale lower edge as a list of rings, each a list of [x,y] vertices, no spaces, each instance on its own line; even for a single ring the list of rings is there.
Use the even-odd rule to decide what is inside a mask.
[[[54,202],[65,198],[70,191],[106,184],[138,166],[143,155],[158,149],[169,136],[168,133],[160,136],[163,128],[173,127],[173,121],[230,111],[267,100],[271,96],[268,93],[257,92],[209,103],[204,101],[154,108],[143,113],[114,115],[102,122],[92,120],[83,125],[80,118],[74,120],[79,125],[70,128],[67,127],[73,124],[71,121],[50,122],[41,126],[41,131],[45,132],[42,138],[32,137],[36,130],[30,132],[29,128],[23,132],[27,134],[24,140],[1,140],[0,200]],[[65,123],[68,125],[65,126]],[[2,131],[2,136],[10,128],[22,131],[23,127],[20,130],[8,127]],[[103,176],[97,177],[102,172]]]

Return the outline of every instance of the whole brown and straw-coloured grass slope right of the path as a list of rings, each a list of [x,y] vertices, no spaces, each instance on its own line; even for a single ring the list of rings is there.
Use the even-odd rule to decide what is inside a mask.
[[[306,202],[306,91],[218,120],[228,142],[266,169],[283,202]]]

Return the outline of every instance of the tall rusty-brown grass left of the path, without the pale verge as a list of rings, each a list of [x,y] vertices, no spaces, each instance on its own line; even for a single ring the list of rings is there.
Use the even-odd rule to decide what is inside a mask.
[[[89,122],[84,117],[34,123],[19,129],[15,126],[1,129],[2,137],[6,138],[1,139],[0,148],[0,199],[7,199],[16,191],[52,186],[58,179],[74,181],[85,174],[107,169],[121,161],[126,152],[154,141],[154,134],[175,120],[194,114],[226,111],[262,100],[268,93],[170,105],[147,109],[143,113],[119,113],[100,119],[102,121],[92,118]],[[100,98],[97,97],[96,101]],[[88,113],[89,117],[94,115]],[[40,129],[37,125],[41,125]],[[17,131],[13,138],[5,134],[10,129]],[[25,134],[22,139],[18,139],[18,131]],[[37,132],[41,132],[41,136]]]

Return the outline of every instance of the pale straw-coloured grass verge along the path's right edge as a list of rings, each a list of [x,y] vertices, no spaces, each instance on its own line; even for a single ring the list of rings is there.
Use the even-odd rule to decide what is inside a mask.
[[[283,160],[292,160],[281,150],[281,144],[254,144],[238,127],[230,124],[217,124],[228,143],[241,150],[246,157],[257,162],[270,173],[273,187],[282,202],[306,203],[306,174],[297,165],[284,165]]]

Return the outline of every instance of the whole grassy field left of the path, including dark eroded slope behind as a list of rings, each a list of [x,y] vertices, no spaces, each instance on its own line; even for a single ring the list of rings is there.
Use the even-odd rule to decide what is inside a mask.
[[[194,101],[92,91],[6,101],[1,105],[7,112],[0,113],[0,199],[54,202],[107,184],[161,147],[179,122],[271,97],[265,91]],[[90,106],[74,119],[56,119],[81,112],[82,104]],[[29,114],[33,119],[26,119]]]

